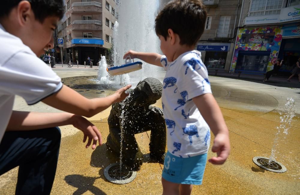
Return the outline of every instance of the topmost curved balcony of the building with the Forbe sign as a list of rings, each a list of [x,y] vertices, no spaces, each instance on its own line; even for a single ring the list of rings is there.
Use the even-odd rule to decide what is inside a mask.
[[[96,1],[91,2],[74,2],[71,6],[72,13],[92,13],[99,12],[101,8],[102,12],[102,3]]]

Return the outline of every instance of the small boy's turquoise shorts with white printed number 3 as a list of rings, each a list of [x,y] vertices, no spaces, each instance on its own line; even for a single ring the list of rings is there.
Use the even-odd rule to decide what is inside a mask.
[[[162,177],[168,182],[201,185],[206,160],[207,153],[190,158],[180,158],[168,151]]]

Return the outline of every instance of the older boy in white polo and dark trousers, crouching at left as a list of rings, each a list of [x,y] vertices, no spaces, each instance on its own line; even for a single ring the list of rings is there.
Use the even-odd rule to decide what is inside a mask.
[[[61,83],[37,56],[53,48],[53,30],[63,14],[62,0],[1,1],[0,175],[19,166],[16,194],[50,194],[61,139],[56,126],[73,125],[83,131],[86,148],[95,149],[101,134],[81,115],[91,117],[122,101],[131,87],[87,99]],[[66,112],[13,111],[15,95],[28,105],[42,101]]]

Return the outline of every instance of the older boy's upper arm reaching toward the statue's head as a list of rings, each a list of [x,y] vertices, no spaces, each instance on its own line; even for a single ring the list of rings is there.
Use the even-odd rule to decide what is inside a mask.
[[[65,112],[92,117],[104,111],[113,103],[125,99],[129,95],[129,93],[125,93],[125,91],[130,87],[131,85],[127,85],[117,90],[113,95],[104,98],[87,99],[70,87],[64,85],[61,90],[45,98],[42,102]]]

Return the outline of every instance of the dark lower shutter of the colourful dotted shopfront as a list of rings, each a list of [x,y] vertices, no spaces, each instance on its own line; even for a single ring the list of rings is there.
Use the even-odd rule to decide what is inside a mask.
[[[269,51],[239,51],[235,70],[266,72],[269,58]]]

